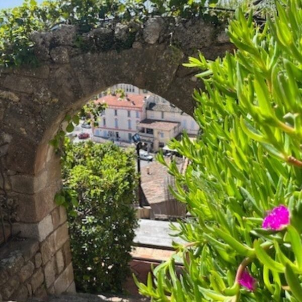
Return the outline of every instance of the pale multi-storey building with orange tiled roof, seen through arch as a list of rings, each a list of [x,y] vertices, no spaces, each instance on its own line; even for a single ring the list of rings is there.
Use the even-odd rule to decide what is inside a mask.
[[[98,127],[93,129],[95,136],[112,140],[132,141],[137,132],[137,124],[146,118],[145,95],[128,94],[121,99],[119,95],[107,95],[97,103],[106,103],[108,108],[99,117]]]

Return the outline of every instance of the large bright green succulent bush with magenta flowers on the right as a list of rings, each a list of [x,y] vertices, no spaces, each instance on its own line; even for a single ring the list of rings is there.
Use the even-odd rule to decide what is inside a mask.
[[[193,218],[174,227],[181,273],[172,258],[138,284],[153,301],[302,301],[302,2],[276,7],[263,27],[239,10],[237,51],[186,64],[202,134],[171,144],[191,164],[170,173]]]

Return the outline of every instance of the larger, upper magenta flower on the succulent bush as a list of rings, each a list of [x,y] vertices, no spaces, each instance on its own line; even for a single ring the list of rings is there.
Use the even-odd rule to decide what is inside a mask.
[[[289,224],[289,210],[281,204],[269,211],[268,215],[262,222],[263,229],[280,231]]]

